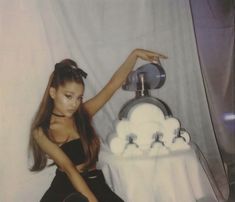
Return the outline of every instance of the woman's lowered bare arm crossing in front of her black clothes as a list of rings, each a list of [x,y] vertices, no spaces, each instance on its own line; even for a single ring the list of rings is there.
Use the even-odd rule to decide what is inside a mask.
[[[74,188],[87,197],[89,202],[98,202],[67,155],[47,138],[42,129],[35,130],[33,135],[40,148],[67,174]]]

